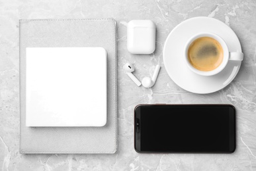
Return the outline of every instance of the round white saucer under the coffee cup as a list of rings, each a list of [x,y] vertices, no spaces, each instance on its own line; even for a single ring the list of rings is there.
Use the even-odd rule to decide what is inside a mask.
[[[230,51],[241,52],[239,39],[229,26],[220,20],[200,16],[181,22],[171,31],[163,47],[163,62],[170,78],[181,88],[192,93],[213,93],[232,82],[241,61],[229,61],[226,68],[214,76],[200,76],[192,72],[182,55],[189,38],[200,32],[217,34],[226,41]]]

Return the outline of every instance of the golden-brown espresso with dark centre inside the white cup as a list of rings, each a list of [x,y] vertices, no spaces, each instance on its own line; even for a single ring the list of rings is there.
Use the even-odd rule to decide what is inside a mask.
[[[218,68],[224,58],[222,45],[212,37],[195,39],[187,53],[191,65],[202,71]]]

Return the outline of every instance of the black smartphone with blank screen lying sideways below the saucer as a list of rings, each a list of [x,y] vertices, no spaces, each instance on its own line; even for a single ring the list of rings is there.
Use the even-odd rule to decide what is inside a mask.
[[[134,109],[138,153],[233,153],[233,105],[138,105]]]

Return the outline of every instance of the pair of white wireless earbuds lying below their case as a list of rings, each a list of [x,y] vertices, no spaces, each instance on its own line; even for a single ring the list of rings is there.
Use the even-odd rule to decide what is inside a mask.
[[[155,67],[155,71],[153,72],[152,78],[145,77],[143,78],[141,83],[140,80],[138,80],[138,78],[136,78],[134,74],[132,74],[132,72],[134,72],[135,70],[134,66],[130,63],[127,63],[124,65],[124,70],[126,71],[126,74],[132,79],[132,81],[134,81],[136,85],[138,86],[143,85],[146,88],[150,88],[155,84],[160,68],[161,66],[157,64],[157,66]]]

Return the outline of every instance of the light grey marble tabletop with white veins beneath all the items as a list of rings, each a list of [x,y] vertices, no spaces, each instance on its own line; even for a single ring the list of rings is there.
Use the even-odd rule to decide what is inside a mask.
[[[163,44],[180,22],[194,16],[217,18],[241,41],[245,59],[234,81],[216,93],[198,95],[177,86],[163,66]],[[118,151],[113,155],[21,155],[19,153],[19,19],[114,18],[118,43]],[[126,49],[126,24],[150,19],[157,26],[156,50],[132,55]],[[149,89],[137,87],[134,74],[161,72]],[[237,149],[227,154],[138,154],[134,151],[133,110],[142,103],[228,103],[237,109]],[[256,1],[0,0],[0,170],[256,170]]]

